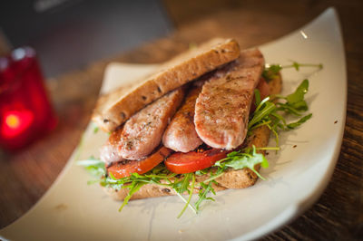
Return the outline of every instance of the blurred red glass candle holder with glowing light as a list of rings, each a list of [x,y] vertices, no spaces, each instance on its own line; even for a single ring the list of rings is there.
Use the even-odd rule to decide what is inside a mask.
[[[34,49],[0,57],[0,146],[20,149],[56,126]]]

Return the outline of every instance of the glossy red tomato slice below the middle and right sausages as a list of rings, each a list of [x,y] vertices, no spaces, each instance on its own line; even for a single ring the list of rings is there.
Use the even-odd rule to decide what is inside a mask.
[[[223,149],[207,149],[201,152],[176,152],[165,160],[165,166],[173,173],[190,173],[206,169],[214,165],[217,160],[224,159],[228,151]]]

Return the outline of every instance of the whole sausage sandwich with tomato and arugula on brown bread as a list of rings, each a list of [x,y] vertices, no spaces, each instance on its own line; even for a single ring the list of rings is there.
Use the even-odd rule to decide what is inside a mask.
[[[191,206],[198,210],[210,192],[256,182],[267,166],[270,132],[311,116],[287,124],[278,112],[307,111],[308,85],[282,97],[280,65],[266,69],[259,49],[240,51],[234,40],[213,39],[101,96],[93,120],[110,137],[101,148],[103,164],[86,166],[102,169],[101,185],[123,206],[133,198],[185,194],[191,206],[191,194],[199,193]]]

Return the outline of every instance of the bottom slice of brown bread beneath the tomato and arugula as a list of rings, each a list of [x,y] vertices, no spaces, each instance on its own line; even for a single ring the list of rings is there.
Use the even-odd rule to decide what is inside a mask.
[[[269,82],[270,85],[270,93],[277,94],[280,93],[282,88],[282,79],[281,76],[277,76],[273,80]],[[255,130],[252,130],[252,135],[245,140],[247,141],[248,146],[256,146],[256,147],[266,147],[269,143],[270,139],[270,129],[266,126],[262,126]],[[260,169],[260,165],[256,165],[255,169]],[[209,178],[208,175],[197,176],[197,188],[194,189],[194,193],[199,191],[198,182],[201,182],[205,179]],[[215,191],[221,191],[227,188],[248,188],[254,185],[257,181],[257,175],[250,169],[228,169],[220,178],[216,178],[217,185],[213,184],[213,188]],[[122,188],[118,191],[113,190],[112,188],[103,188],[104,191],[113,197],[116,200],[123,200],[128,194],[127,188]],[[165,188],[162,186],[158,186],[155,184],[147,184],[142,186],[139,191],[133,194],[131,199],[140,199],[140,198],[155,198],[162,196],[170,196],[176,195],[175,191],[171,188]]]

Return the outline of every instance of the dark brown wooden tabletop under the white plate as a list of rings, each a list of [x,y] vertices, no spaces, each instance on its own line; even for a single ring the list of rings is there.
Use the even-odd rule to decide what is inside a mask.
[[[63,169],[89,121],[107,63],[160,63],[190,43],[214,36],[234,37],[242,48],[259,45],[288,34],[333,5],[341,20],[348,66],[347,124],[338,164],[319,201],[264,239],[363,239],[363,1],[165,0],[164,5],[176,26],[173,34],[49,80],[60,123],[29,148],[1,153],[0,227],[32,207]]]

